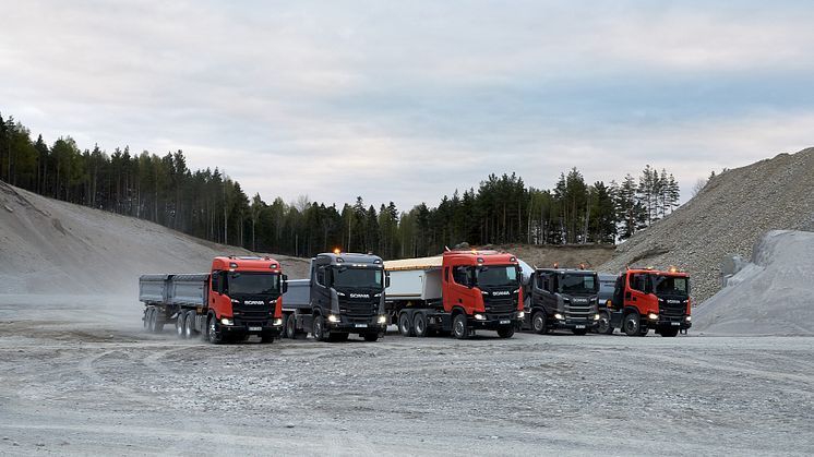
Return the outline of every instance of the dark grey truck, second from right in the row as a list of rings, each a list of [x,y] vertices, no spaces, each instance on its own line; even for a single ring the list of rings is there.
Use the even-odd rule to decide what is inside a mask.
[[[529,281],[524,328],[546,334],[565,328],[585,335],[599,320],[596,272],[582,268],[538,268]]]

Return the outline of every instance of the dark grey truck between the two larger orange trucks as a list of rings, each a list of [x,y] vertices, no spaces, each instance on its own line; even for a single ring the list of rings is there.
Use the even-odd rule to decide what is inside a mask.
[[[382,258],[372,254],[324,253],[311,260],[308,279],[288,280],[283,296],[287,338],[311,333],[319,341],[343,341],[350,334],[375,341],[387,327]]]

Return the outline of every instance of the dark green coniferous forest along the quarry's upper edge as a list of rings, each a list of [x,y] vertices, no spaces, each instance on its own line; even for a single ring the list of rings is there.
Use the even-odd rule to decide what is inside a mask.
[[[434,255],[445,245],[613,243],[670,214],[675,178],[649,165],[641,176],[585,182],[576,168],[553,189],[515,173],[489,175],[436,206],[375,208],[361,196],[327,205],[248,196],[213,170],[191,170],[181,151],[159,156],[129,147],[81,149],[69,136],[47,144],[0,115],[0,180],[40,195],[152,220],[205,240],[258,252],[311,256],[340,246],[385,258]]]

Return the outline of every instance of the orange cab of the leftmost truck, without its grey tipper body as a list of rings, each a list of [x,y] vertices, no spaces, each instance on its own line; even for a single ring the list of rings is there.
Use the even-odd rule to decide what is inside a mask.
[[[260,335],[273,339],[283,328],[283,293],[287,277],[271,257],[223,256],[212,262],[206,336],[212,342],[224,337]]]

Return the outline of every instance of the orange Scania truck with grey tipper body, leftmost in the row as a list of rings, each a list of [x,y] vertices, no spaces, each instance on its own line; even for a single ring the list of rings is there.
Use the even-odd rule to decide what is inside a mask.
[[[179,338],[272,342],[283,328],[287,280],[274,258],[235,255],[215,257],[210,273],[143,275],[144,328],[160,333],[171,323]]]

